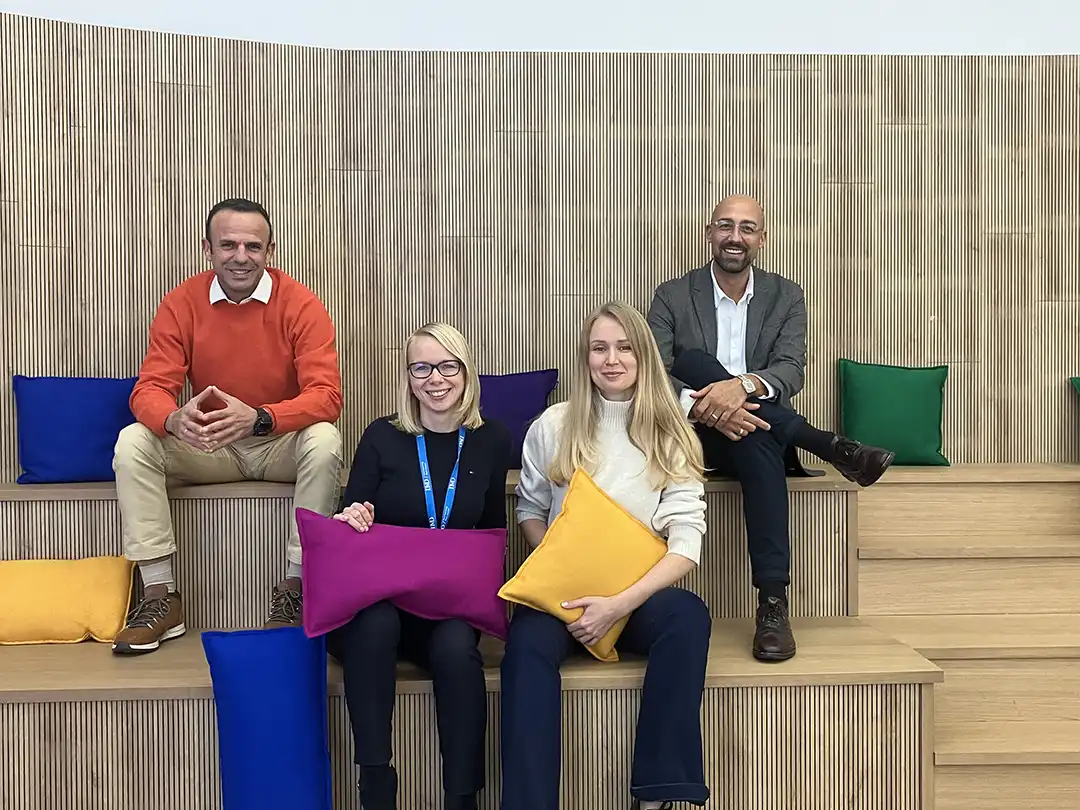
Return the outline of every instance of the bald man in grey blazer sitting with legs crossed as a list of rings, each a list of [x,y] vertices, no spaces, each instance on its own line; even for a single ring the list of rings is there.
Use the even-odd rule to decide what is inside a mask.
[[[729,197],[705,234],[712,261],[661,284],[648,321],[706,467],[742,485],[758,592],[754,656],[785,661],[795,654],[786,448],[814,454],[861,486],[894,454],[819,430],[792,409],[806,377],[806,301],[798,284],[754,265],[766,238],[761,206]]]

